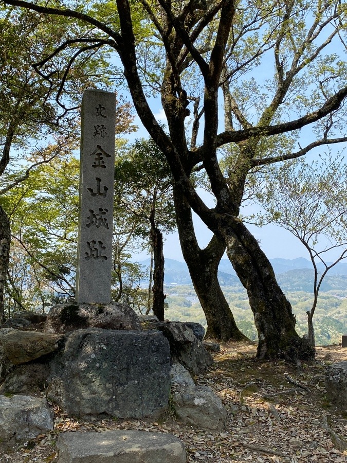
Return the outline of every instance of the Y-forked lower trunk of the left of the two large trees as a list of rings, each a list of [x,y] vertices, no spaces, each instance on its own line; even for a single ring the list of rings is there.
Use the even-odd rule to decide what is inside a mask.
[[[205,337],[218,341],[247,339],[236,326],[218,281],[218,264],[225,252],[225,243],[213,236],[209,245],[204,250],[200,249],[195,237],[191,209],[176,187],[174,202],[182,254],[206,316]]]

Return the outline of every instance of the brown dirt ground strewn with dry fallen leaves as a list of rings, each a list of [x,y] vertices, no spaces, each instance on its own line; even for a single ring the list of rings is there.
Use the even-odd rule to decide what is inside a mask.
[[[316,362],[288,365],[254,360],[251,343],[221,345],[215,364],[196,383],[212,387],[229,415],[222,433],[186,427],[167,413],[163,422],[79,422],[54,407],[54,431],[14,452],[0,454],[0,463],[43,463],[57,459],[57,434],[109,429],[169,432],[182,439],[187,462],[347,462],[347,410],[326,396],[327,365],[347,360],[347,348],[317,347]],[[52,405],[53,406],[53,405]]]

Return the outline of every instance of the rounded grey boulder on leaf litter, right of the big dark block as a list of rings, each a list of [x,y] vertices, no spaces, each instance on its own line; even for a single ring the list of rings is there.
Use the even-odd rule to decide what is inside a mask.
[[[173,406],[184,424],[210,431],[221,431],[225,426],[227,411],[208,386],[177,388],[173,393]]]

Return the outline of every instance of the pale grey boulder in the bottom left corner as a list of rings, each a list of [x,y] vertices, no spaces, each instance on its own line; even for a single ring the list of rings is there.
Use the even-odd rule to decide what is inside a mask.
[[[0,396],[0,449],[23,443],[52,431],[54,413],[46,399],[30,396]]]

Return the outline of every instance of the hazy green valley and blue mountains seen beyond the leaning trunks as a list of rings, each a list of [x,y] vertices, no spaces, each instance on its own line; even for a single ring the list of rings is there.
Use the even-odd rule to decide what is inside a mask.
[[[272,259],[271,263],[277,270],[281,288],[293,307],[297,319],[297,331],[302,336],[307,333],[306,311],[311,309],[313,302],[313,270],[309,268],[306,259]],[[307,268],[296,268],[306,265]],[[232,267],[227,260],[222,259],[218,279],[230,305],[236,323],[240,330],[251,340],[257,340],[257,330],[249,307],[246,290],[240,280],[232,275]],[[287,270],[287,269],[291,270]],[[282,273],[281,271],[284,272]],[[341,335],[347,333],[347,275],[344,264],[327,275],[323,280],[314,326],[317,345],[331,345],[341,342]],[[166,266],[166,286],[168,308],[166,317],[170,320],[184,320],[201,323],[206,328],[206,318],[199,300],[195,294],[188,270],[182,262],[168,259]]]

